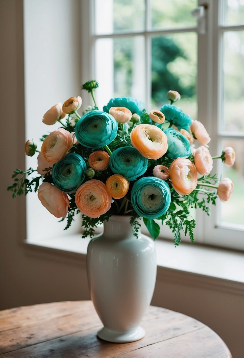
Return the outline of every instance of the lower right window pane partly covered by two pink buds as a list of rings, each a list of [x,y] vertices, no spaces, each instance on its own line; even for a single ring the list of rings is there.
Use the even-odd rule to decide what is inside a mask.
[[[236,154],[235,163],[224,165],[223,178],[230,178],[234,184],[233,193],[228,203],[221,203],[221,223],[242,225],[244,228],[244,140],[225,140],[223,149],[230,146]]]

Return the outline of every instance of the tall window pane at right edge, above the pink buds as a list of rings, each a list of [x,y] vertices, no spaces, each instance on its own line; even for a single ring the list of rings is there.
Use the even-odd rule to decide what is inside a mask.
[[[224,33],[222,130],[244,132],[244,31]]]

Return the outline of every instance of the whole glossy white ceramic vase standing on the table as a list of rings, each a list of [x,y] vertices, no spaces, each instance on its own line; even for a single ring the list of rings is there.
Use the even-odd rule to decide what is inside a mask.
[[[133,342],[145,335],[139,323],[156,281],[156,250],[146,235],[133,236],[130,217],[112,216],[87,249],[87,276],[94,307],[104,327],[98,337]]]

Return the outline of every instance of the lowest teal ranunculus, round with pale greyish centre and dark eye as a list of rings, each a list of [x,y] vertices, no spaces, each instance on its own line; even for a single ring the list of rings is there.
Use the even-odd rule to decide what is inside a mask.
[[[169,185],[155,176],[145,176],[131,190],[131,204],[138,215],[156,219],[166,213],[171,202]]]

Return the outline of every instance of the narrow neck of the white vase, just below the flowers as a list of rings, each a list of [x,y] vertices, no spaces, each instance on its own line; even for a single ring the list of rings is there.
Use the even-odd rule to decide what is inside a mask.
[[[112,215],[108,221],[104,221],[103,235],[113,240],[123,240],[133,237],[130,216]],[[140,234],[140,230],[138,232]]]

